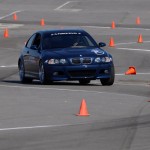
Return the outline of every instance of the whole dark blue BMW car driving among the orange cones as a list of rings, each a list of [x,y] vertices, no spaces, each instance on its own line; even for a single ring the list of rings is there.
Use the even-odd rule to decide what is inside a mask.
[[[45,30],[34,33],[18,59],[20,81],[34,79],[41,84],[76,80],[89,84],[99,79],[102,85],[113,85],[115,71],[112,56],[103,50],[84,30]]]

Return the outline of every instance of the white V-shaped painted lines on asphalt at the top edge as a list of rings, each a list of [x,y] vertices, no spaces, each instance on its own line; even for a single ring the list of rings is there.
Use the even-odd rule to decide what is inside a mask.
[[[63,9],[64,6],[68,5],[69,3],[74,3],[76,1],[67,1],[66,3],[60,5],[59,7],[55,8],[54,10],[57,10],[57,11],[65,11],[65,12],[78,12],[78,11],[81,11],[82,9]]]

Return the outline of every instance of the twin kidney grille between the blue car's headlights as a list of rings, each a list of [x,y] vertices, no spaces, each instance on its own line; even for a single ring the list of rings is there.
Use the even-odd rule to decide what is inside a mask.
[[[71,58],[70,61],[74,65],[91,64],[92,63],[92,58],[90,58],[90,57]]]

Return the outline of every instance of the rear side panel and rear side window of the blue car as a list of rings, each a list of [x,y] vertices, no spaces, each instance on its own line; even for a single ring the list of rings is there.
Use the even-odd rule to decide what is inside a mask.
[[[26,74],[30,75],[31,71],[31,61],[30,61],[30,55],[31,55],[31,46],[36,37],[36,34],[33,34],[29,40],[27,41],[27,44],[23,50],[23,60],[24,60],[24,67]]]

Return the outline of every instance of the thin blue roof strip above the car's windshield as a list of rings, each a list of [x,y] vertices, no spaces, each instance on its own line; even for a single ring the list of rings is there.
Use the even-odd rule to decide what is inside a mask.
[[[53,30],[41,30],[38,31],[37,33],[69,33],[69,32],[80,32],[80,33],[86,33],[83,29],[53,29]]]

